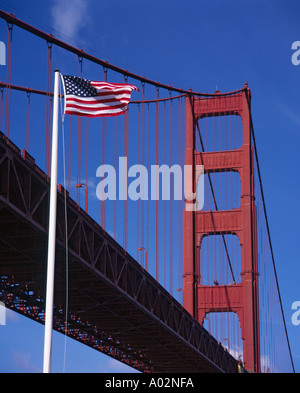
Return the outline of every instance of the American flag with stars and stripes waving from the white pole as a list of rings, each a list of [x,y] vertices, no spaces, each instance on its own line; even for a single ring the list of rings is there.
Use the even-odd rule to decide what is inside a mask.
[[[136,86],[125,83],[95,82],[62,75],[65,90],[65,114],[100,117],[125,113]]]

